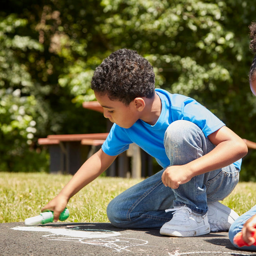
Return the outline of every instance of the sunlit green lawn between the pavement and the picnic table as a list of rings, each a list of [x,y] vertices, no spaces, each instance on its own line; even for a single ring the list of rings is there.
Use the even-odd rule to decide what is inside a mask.
[[[71,179],[71,175],[0,172],[0,223],[24,222],[41,208]],[[66,222],[109,222],[106,207],[115,196],[142,179],[98,177],[73,196]],[[239,215],[255,205],[255,183],[241,182],[222,203]]]

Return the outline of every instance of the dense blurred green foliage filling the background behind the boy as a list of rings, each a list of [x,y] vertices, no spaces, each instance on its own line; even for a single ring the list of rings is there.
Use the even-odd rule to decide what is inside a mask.
[[[81,103],[94,99],[89,87],[95,68],[121,47],[136,49],[152,63],[156,87],[195,98],[239,136],[256,140],[256,98],[247,80],[253,0],[6,0],[5,6],[1,94],[7,91],[12,101],[10,94],[20,92],[31,104],[26,122],[33,120],[36,131],[22,138],[33,147],[49,133],[103,131],[103,119],[93,122],[94,113]],[[9,113],[10,106],[1,105],[1,111]],[[1,130],[9,126],[1,120]],[[31,132],[25,126],[18,129],[26,137]],[[1,153],[10,155],[8,147]],[[254,179],[255,161],[254,153],[245,159],[243,179]]]

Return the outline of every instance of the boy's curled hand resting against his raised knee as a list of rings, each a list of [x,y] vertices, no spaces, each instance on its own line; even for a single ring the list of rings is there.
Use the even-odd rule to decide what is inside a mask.
[[[185,165],[173,165],[165,169],[162,182],[166,187],[177,189],[181,184],[187,183],[193,176],[189,175]]]

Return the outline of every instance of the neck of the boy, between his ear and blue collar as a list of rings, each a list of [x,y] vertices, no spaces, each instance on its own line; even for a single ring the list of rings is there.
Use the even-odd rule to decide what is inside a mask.
[[[144,98],[144,101],[146,104],[140,119],[147,124],[155,125],[161,114],[161,100],[155,93],[154,97],[150,99]]]

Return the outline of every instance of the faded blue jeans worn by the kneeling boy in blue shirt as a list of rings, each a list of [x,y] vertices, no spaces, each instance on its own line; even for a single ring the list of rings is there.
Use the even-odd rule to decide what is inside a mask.
[[[186,120],[170,124],[165,132],[164,146],[170,165],[184,165],[210,152],[215,146],[202,130]],[[193,177],[177,189],[165,187],[161,181],[164,170],[127,189],[107,207],[110,222],[121,228],[160,228],[170,221],[166,209],[187,205],[204,215],[207,202],[223,200],[239,180],[234,165]]]

